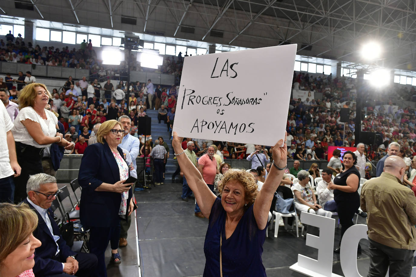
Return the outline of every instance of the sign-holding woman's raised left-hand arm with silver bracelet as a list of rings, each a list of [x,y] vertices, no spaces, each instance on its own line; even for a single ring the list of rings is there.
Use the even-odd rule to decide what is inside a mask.
[[[182,140],[183,137],[178,137],[178,134],[173,132],[172,146],[176,154],[183,152],[181,146]],[[208,188],[206,182],[202,178],[201,172],[199,172],[198,168],[192,164],[191,160],[185,153],[176,156],[176,160],[178,161],[179,167],[181,167],[183,175],[188,182],[188,186],[193,191],[193,194],[195,194],[195,199],[198,202],[199,208],[201,208],[201,212],[206,218],[209,218],[212,205],[214,204],[217,196],[215,196],[215,194],[213,194],[213,192]]]

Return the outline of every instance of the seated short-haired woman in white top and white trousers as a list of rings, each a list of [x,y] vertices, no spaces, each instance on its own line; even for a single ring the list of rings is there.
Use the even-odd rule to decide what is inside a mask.
[[[301,170],[297,174],[299,182],[293,185],[295,194],[295,208],[298,213],[302,211],[317,214],[319,216],[331,217],[330,211],[325,211],[321,205],[317,204],[315,192],[309,184],[309,172]]]

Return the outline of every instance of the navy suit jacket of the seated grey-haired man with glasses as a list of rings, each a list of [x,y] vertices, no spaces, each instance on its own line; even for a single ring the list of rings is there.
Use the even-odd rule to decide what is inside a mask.
[[[26,198],[23,202],[27,203],[37,215],[38,223],[35,231],[33,232],[33,236],[42,242],[42,245],[35,249],[35,266],[33,267],[33,273],[35,273],[36,277],[62,273],[62,263],[57,260],[53,260],[57,248],[55,240],[46,226],[45,220]],[[77,253],[72,251],[62,238],[61,233],[59,232],[59,227],[53,219],[53,211],[49,208],[47,209],[47,213],[51,221],[54,235],[59,235],[60,237],[57,241],[59,246],[59,260],[65,262],[67,257],[77,255]]]

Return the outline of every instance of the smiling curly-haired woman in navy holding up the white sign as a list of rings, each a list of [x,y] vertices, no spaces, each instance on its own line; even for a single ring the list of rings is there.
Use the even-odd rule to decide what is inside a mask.
[[[203,276],[266,276],[262,245],[273,195],[287,166],[286,141],[279,140],[273,148],[274,161],[260,191],[251,173],[228,170],[218,185],[218,198],[183,154],[182,140],[173,132],[172,145],[179,166],[203,215],[209,218]]]

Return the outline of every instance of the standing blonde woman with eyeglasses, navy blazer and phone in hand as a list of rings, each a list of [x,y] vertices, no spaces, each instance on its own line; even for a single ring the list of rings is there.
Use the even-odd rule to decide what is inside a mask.
[[[89,252],[98,258],[94,276],[107,276],[104,253],[110,237],[117,240],[111,245],[118,245],[120,217],[126,218],[133,211],[133,183],[124,184],[130,177],[129,165],[118,146],[123,134],[124,128],[117,120],[102,123],[97,143],[85,149],[79,167],[78,182],[83,188],[79,217],[82,225],[90,228]],[[117,249],[111,250],[111,262],[120,260]]]

